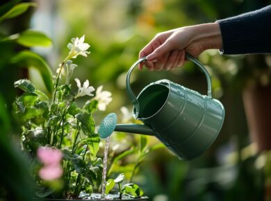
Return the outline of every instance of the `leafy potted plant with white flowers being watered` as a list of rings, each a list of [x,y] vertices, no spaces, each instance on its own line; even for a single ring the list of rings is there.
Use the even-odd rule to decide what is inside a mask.
[[[15,87],[23,93],[13,103],[13,114],[22,128],[22,150],[30,159],[29,168],[36,182],[35,195],[42,200],[101,200],[101,197],[104,200],[116,200],[116,197],[147,200],[142,197],[139,186],[131,183],[120,187],[117,195],[93,194],[100,192],[102,182],[106,184],[106,161],[103,163],[97,156],[100,138],[95,131],[93,113],[105,110],[112,98],[109,91],[102,91],[102,86],[94,96],[95,88],[88,80],[81,85],[75,78],[78,90],[72,89],[70,80],[77,67],[72,59],[79,55],[87,57],[90,53],[87,51],[90,45],[84,40],[85,36],[76,37],[67,45],[70,51],[52,79],[51,94],[36,89],[30,80],[15,82]],[[76,100],[81,96],[94,98],[79,107]],[[105,193],[123,181],[123,175],[108,180]]]

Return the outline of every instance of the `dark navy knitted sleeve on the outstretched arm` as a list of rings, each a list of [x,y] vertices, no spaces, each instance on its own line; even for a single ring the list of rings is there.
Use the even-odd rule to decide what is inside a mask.
[[[222,53],[271,53],[271,6],[217,22],[222,33]]]

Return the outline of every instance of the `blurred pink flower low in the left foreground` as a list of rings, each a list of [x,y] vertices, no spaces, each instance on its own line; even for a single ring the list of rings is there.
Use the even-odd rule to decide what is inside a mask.
[[[40,147],[38,148],[37,155],[44,164],[39,171],[42,180],[56,180],[63,175],[63,168],[60,166],[63,154],[60,150],[56,148]]]

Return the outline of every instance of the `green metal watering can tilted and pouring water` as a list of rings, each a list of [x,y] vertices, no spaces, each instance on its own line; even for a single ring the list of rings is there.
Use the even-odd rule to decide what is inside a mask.
[[[101,122],[99,135],[105,139],[112,132],[153,135],[180,159],[199,157],[215,141],[224,121],[224,107],[212,98],[211,78],[204,66],[191,55],[186,58],[202,69],[207,83],[207,96],[170,80],[158,80],[147,85],[138,97],[130,86],[131,72],[146,58],[140,58],[129,69],[126,89],[133,102],[133,117],[144,124],[117,124],[117,115],[108,114]]]

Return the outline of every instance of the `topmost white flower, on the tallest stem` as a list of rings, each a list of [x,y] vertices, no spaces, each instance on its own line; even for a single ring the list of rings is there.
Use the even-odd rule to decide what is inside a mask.
[[[78,37],[72,38],[72,43],[69,43],[67,45],[69,51],[69,55],[67,56],[67,59],[69,58],[76,58],[78,55],[83,55],[84,57],[87,57],[88,48],[90,45],[88,43],[84,43],[85,35],[83,35],[80,39]]]

